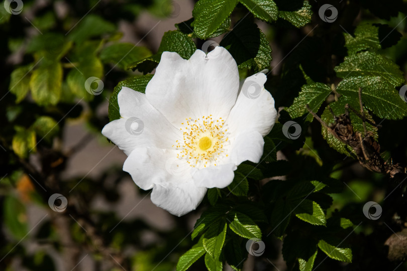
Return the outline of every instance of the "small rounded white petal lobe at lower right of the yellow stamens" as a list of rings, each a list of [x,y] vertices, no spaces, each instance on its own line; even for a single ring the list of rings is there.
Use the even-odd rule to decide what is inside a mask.
[[[231,145],[230,161],[237,166],[244,161],[259,163],[263,147],[264,140],[259,132],[255,130],[241,132]]]

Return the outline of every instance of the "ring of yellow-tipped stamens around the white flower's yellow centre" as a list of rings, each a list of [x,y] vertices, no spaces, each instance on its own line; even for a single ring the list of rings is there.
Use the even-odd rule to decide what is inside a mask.
[[[186,159],[191,167],[204,168],[216,166],[218,158],[228,156],[224,146],[228,143],[228,129],[224,127],[225,120],[220,117],[213,119],[212,115],[202,118],[186,118],[183,140],[176,141],[174,148],[180,150],[178,158]]]

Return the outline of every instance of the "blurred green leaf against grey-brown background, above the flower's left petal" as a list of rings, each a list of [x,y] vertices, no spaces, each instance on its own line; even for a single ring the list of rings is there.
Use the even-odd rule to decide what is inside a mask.
[[[117,43],[104,48],[100,52],[100,59],[104,63],[111,63],[126,69],[130,64],[151,56],[146,47],[135,46],[131,43]]]

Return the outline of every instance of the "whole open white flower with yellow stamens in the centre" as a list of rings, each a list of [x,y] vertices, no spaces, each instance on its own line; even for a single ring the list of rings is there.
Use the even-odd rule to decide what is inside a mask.
[[[207,188],[227,187],[237,166],[258,163],[263,137],[274,125],[266,75],[239,83],[235,60],[223,47],[189,60],[164,52],[146,94],[123,87],[121,118],[102,133],[128,156],[123,170],[157,206],[181,216]]]

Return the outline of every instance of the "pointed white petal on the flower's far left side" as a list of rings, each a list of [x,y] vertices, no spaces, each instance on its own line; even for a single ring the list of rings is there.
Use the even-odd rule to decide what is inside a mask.
[[[171,149],[182,138],[180,130],[147,101],[145,94],[123,87],[118,102],[123,118],[108,123],[102,133],[127,155],[138,147]]]

